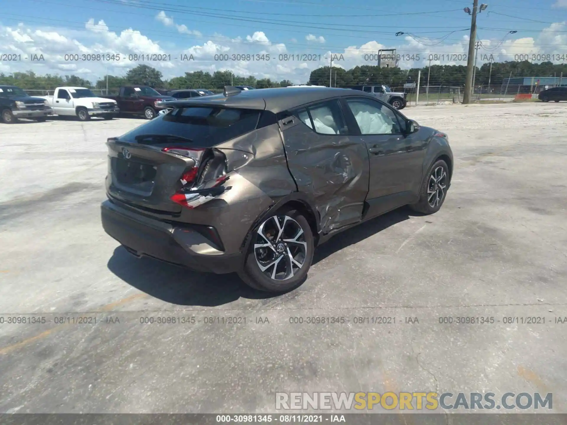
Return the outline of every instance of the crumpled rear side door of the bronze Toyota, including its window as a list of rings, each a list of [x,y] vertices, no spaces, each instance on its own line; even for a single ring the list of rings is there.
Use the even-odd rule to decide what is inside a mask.
[[[338,100],[279,118],[291,175],[298,190],[314,198],[321,232],[359,222],[369,190],[369,156],[365,143],[349,136]]]

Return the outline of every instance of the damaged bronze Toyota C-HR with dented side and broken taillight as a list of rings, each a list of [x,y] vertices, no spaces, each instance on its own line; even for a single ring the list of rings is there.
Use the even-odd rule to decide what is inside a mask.
[[[138,257],[287,291],[317,245],[404,205],[435,213],[450,186],[447,135],[364,92],[229,86],[167,107],[107,141],[103,227]]]

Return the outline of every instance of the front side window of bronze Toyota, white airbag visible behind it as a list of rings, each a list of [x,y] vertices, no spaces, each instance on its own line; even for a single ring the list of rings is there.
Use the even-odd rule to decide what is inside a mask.
[[[366,99],[347,99],[362,134],[401,134],[395,113],[386,105]]]

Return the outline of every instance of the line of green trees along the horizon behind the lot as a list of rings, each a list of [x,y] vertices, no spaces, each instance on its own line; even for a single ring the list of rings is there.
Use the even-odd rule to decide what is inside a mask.
[[[358,84],[387,84],[390,87],[403,87],[404,83],[417,82],[420,68],[409,70],[399,68],[380,68],[378,66],[356,66],[345,70],[333,67],[332,73],[328,66],[320,67],[311,72],[306,84],[328,86],[329,79],[333,87],[354,86]],[[424,86],[429,76],[429,82],[435,86],[463,86],[467,68],[464,65],[431,65],[421,68],[421,85]],[[476,70],[476,84],[498,85],[510,75],[514,76],[560,76],[567,78],[567,64],[554,65],[552,62],[531,63],[523,62],[494,62]],[[94,84],[76,75],[37,75],[33,71],[26,73],[2,74],[0,84],[22,87],[24,90],[54,90],[58,86],[81,86],[88,88],[107,88],[107,77],[101,78]],[[213,74],[204,71],[185,73],[170,80],[163,74],[147,65],[139,65],[126,73],[125,76],[108,75],[108,88],[116,88],[126,84],[147,85],[154,88],[206,88],[222,90],[225,86],[252,86],[256,88],[286,87],[292,83],[289,80],[280,82],[269,78],[256,79],[253,76],[234,75],[231,71],[215,71]]]

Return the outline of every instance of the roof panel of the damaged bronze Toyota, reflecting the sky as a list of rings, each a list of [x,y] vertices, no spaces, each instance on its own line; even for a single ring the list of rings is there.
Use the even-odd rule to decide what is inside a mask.
[[[229,96],[221,94],[189,100],[168,101],[168,104],[179,105],[180,107],[184,105],[219,105],[225,108],[265,109],[278,113],[307,103],[348,95],[367,96],[370,99],[375,99],[374,96],[350,88],[278,87],[243,90]]]

